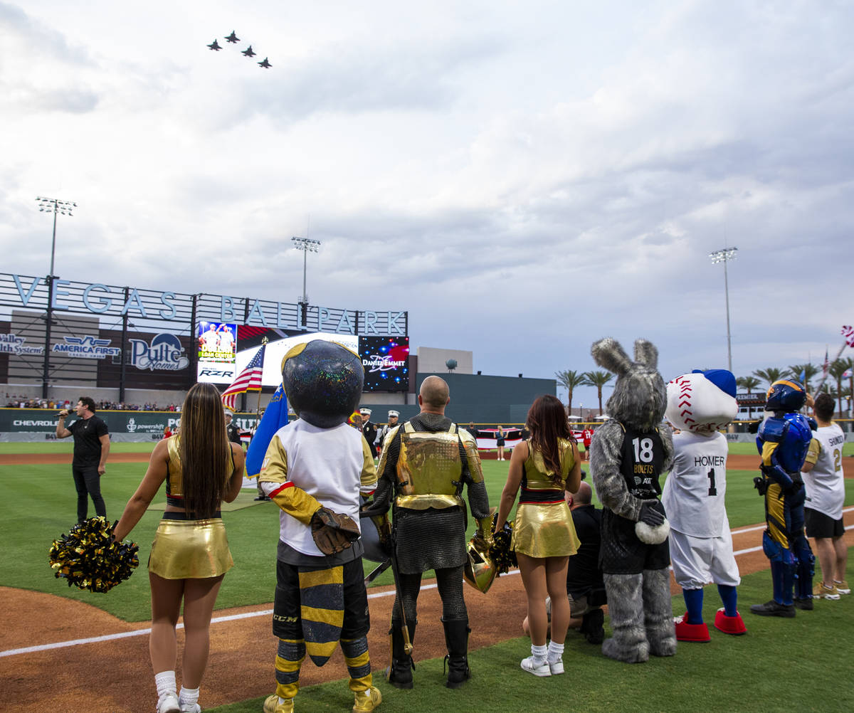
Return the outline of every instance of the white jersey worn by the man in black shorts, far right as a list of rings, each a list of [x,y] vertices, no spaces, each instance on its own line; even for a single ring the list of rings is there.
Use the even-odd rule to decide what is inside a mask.
[[[837,424],[822,426],[812,432],[806,461],[814,463],[809,473],[802,473],[806,502],[804,507],[823,512],[834,520],[842,517],[845,502],[845,474],[842,471],[842,446],[845,434]]]

